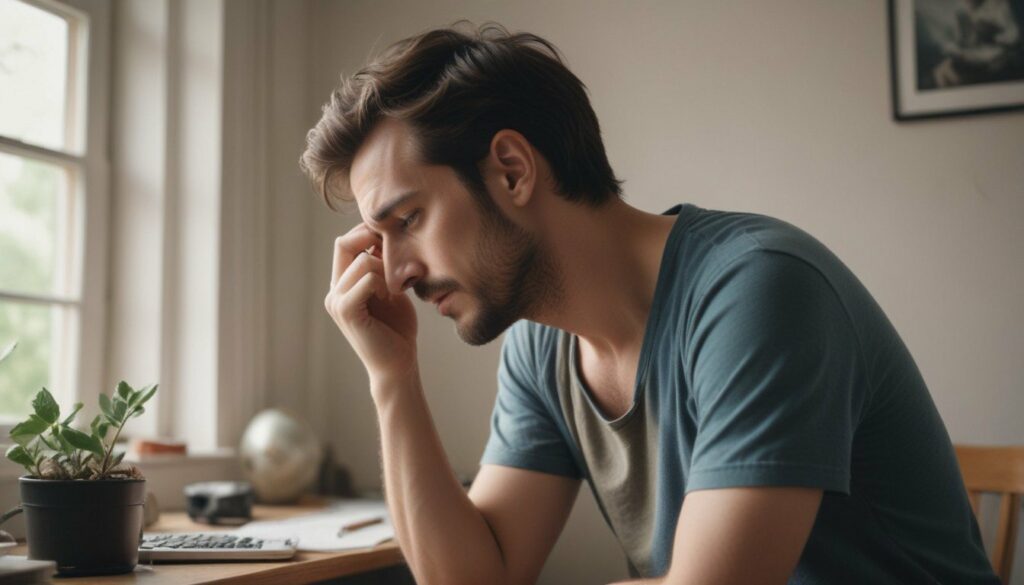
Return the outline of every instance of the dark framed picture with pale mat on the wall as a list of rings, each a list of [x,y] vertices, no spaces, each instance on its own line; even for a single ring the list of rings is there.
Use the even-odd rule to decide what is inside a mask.
[[[897,120],[1024,108],[1024,0],[889,0]]]

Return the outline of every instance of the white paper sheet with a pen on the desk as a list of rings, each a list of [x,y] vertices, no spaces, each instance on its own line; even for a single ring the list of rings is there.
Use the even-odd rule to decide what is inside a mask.
[[[378,525],[360,528],[338,536],[341,527],[372,518],[384,518]],[[253,521],[234,534],[259,538],[294,538],[299,550],[333,552],[376,546],[394,538],[394,527],[387,506],[379,500],[340,500],[310,514],[281,520]]]

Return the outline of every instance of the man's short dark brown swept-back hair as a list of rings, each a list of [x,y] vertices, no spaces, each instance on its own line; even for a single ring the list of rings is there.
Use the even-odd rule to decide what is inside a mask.
[[[622,197],[586,86],[537,35],[460,20],[398,41],[342,77],[299,161],[332,209],[333,198],[351,199],[352,159],[383,118],[408,123],[421,162],[452,167],[477,197],[487,193],[477,165],[506,128],[544,156],[562,197],[593,206]]]

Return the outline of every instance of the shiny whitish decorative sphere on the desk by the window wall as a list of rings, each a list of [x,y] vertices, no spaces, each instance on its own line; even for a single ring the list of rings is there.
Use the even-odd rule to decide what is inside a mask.
[[[296,417],[267,409],[242,435],[242,469],[260,502],[294,502],[316,479],[323,448]]]

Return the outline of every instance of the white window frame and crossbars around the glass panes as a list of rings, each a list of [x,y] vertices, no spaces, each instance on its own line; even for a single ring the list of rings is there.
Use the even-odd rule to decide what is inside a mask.
[[[71,206],[65,225],[76,241],[71,251],[68,290],[71,294],[42,295],[0,290],[0,299],[63,306],[68,315],[60,328],[63,339],[54,346],[58,360],[51,362],[51,384],[63,388],[61,406],[71,402],[94,404],[100,391],[105,360],[106,217],[109,207],[109,86],[110,0],[19,0],[26,4],[74,18],[69,30],[68,62],[71,93],[66,128],[71,140],[63,149],[48,149],[0,135],[0,152],[41,162],[74,167],[76,180],[68,184]],[[72,48],[75,47],[75,48]],[[77,125],[77,127],[76,127]],[[13,356],[12,359],[16,359]],[[0,444],[7,442],[16,419],[0,421]]]

